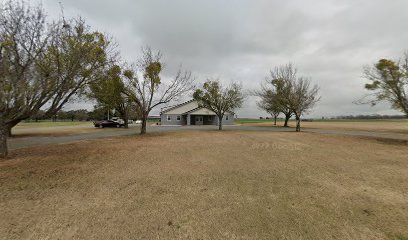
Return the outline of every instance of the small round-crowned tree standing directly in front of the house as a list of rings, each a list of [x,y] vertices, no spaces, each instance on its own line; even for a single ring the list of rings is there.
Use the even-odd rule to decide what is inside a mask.
[[[222,130],[225,113],[232,113],[234,109],[241,107],[245,98],[241,85],[232,83],[224,87],[218,80],[207,80],[202,89],[194,92],[193,97],[199,106],[208,108],[217,115],[219,130]]]

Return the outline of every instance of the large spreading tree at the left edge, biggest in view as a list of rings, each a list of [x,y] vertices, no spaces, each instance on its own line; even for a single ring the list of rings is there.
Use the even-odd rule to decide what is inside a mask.
[[[9,0],[0,11],[0,157],[20,121],[55,115],[109,60],[110,42],[79,20],[46,23],[44,10]]]

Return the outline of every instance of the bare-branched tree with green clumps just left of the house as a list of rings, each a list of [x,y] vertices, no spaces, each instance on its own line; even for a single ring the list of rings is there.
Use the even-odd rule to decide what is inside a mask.
[[[124,72],[129,80],[128,95],[137,104],[142,116],[140,134],[146,133],[148,116],[153,108],[175,101],[194,89],[191,72],[182,71],[181,67],[170,82],[162,81],[160,74],[163,65],[160,51],[153,52],[150,47],[144,47],[142,57],[137,63],[143,77],[139,79],[137,69]]]

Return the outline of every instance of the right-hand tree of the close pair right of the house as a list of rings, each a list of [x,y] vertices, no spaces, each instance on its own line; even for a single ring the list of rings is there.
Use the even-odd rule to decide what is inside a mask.
[[[296,117],[296,132],[300,132],[300,117],[307,113],[320,100],[319,87],[310,85],[310,79],[299,77],[293,79],[289,106]]]

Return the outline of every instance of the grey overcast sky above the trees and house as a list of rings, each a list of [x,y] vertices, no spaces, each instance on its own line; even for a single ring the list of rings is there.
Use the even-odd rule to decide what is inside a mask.
[[[165,75],[178,65],[199,82],[220,78],[257,89],[269,69],[289,62],[320,86],[309,117],[398,114],[389,104],[355,105],[365,93],[364,65],[398,59],[408,50],[406,0],[61,0],[66,16],[81,15],[111,34],[132,62],[141,46],[160,49]],[[57,0],[42,0],[50,18]],[[266,116],[247,99],[238,117]]]

